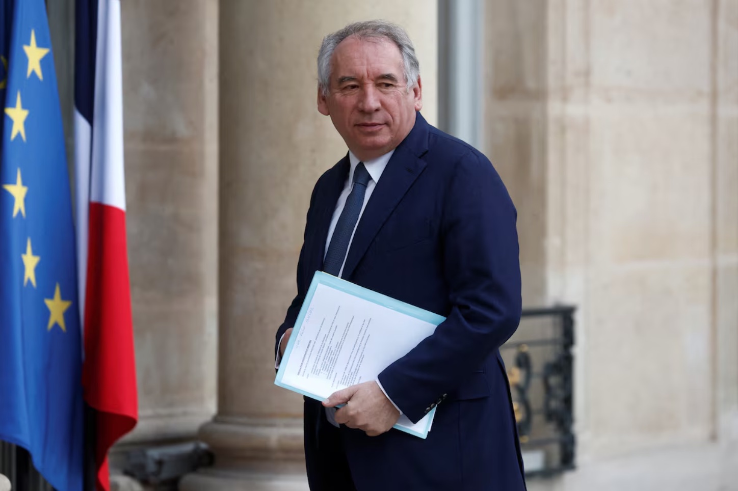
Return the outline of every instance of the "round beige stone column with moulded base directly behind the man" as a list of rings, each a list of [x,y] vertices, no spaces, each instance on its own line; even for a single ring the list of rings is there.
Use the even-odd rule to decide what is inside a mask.
[[[182,490],[306,490],[302,397],[274,386],[274,336],[295,291],[312,187],[346,152],[316,109],[323,35],[351,21],[403,25],[435,121],[435,2],[220,2],[218,414],[200,437],[215,466]]]

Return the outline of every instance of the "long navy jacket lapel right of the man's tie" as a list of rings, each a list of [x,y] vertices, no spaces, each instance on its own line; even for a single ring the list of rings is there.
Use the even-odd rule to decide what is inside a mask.
[[[354,239],[351,240],[351,248],[348,249],[343,265],[343,278],[351,278],[356,265],[366,254],[379,229],[402,200],[407,189],[410,189],[415,179],[425,169],[427,164],[419,157],[427,151],[427,148],[428,123],[420,113],[417,113],[413,130],[399,144],[387,167],[384,168],[384,173],[362,213],[359,225],[356,226]]]

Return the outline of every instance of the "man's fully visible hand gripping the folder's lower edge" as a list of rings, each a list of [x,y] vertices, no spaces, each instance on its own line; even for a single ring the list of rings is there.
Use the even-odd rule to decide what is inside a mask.
[[[326,408],[339,404],[345,406],[336,411],[336,422],[348,428],[358,428],[369,436],[390,431],[400,418],[400,411],[374,380],[336,391],[323,401]]]

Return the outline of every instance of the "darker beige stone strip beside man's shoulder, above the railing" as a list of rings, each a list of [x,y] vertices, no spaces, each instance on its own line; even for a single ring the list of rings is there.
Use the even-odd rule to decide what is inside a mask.
[[[542,1],[489,1],[483,150],[517,208],[523,305],[545,303],[546,10]]]

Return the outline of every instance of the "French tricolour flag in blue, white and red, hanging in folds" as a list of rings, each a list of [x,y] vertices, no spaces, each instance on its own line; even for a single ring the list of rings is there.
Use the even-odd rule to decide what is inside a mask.
[[[108,449],[138,419],[125,240],[120,0],[77,0],[75,190],[84,398],[94,414],[97,490]],[[87,425],[90,428],[90,425]]]

